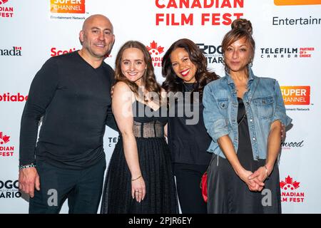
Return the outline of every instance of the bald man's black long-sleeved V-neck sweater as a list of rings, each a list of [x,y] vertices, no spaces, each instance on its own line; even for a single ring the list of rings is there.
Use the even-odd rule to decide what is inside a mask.
[[[31,83],[22,114],[20,165],[35,162],[35,154],[37,160],[76,170],[103,159],[106,123],[116,129],[112,83],[110,66],[93,68],[78,51],[49,58]]]

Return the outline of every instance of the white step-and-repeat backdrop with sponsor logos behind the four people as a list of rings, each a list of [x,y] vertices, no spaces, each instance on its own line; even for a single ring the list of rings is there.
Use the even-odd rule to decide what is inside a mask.
[[[234,19],[249,19],[256,41],[253,71],[276,78],[293,125],[280,155],[283,213],[321,213],[320,0],[0,0],[0,213],[27,213],[18,189],[19,130],[29,86],[51,56],[81,48],[78,33],[92,14],[111,19],[115,65],[128,40],[146,45],[158,81],[170,44],[190,38],[223,76],[224,34]],[[106,129],[107,162],[117,133]],[[62,213],[68,212],[66,203]]]

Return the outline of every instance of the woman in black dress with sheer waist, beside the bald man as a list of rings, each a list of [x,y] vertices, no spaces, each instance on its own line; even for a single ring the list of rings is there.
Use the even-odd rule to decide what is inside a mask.
[[[115,75],[112,108],[121,137],[109,163],[101,213],[177,213],[164,138],[167,103],[143,43],[121,47]]]

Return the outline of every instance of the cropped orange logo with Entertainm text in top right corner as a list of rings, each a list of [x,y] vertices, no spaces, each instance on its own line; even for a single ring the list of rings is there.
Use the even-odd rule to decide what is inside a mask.
[[[307,5],[320,5],[321,0],[274,0],[275,6],[307,6]],[[312,16],[305,17],[281,17],[273,16],[272,25],[273,26],[310,26],[310,25],[320,25],[321,18],[315,18]]]

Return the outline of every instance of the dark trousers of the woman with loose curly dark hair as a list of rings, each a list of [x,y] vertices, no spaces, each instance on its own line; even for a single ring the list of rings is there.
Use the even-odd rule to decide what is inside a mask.
[[[208,165],[174,163],[180,209],[183,214],[206,214],[200,180]]]

